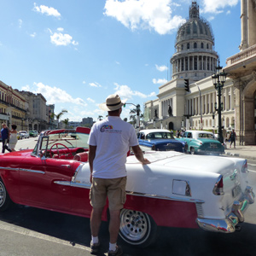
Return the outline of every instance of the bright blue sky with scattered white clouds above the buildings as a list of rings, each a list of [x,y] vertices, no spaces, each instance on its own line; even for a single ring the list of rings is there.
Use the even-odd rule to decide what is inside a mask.
[[[0,0],[0,80],[41,93],[61,119],[96,121],[111,94],[131,108],[172,78],[177,29],[191,0]],[[239,52],[239,0],[201,0],[221,66]],[[212,85],[213,86],[213,85]],[[134,104],[134,105],[132,105]]]

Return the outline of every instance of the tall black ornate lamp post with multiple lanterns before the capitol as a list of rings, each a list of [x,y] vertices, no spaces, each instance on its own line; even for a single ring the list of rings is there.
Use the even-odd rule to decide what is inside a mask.
[[[227,73],[222,71],[222,67],[219,66],[218,60],[218,67],[216,67],[216,74],[212,75],[212,83],[215,89],[218,91],[218,108],[217,102],[215,103],[215,110],[218,111],[218,141],[220,143],[224,143],[224,138],[222,134],[222,120],[221,120],[221,111],[223,110],[223,103],[221,103],[221,90],[224,87],[224,83],[226,82]]]

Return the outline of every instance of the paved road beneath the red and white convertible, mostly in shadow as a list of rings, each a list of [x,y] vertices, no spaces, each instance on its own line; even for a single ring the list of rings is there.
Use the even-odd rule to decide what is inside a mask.
[[[34,139],[19,142],[21,148]],[[248,160],[249,181],[256,191],[256,160]],[[44,196],[44,195],[42,195]],[[246,215],[241,231],[230,235],[203,230],[160,229],[154,246],[146,249],[120,242],[126,256],[255,256],[256,203]],[[0,256],[88,256],[90,255],[90,221],[59,212],[15,206],[0,212]],[[108,224],[100,232],[102,254],[108,251]]]

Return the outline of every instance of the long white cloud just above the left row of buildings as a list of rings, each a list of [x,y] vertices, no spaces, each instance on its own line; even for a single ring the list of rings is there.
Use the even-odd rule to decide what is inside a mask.
[[[41,93],[47,101],[47,104],[55,103],[73,103],[75,105],[86,107],[87,103],[84,102],[81,98],[73,98],[69,95],[67,91],[62,90],[61,88],[51,87],[43,83],[34,83],[36,86],[35,90],[32,90],[29,85],[23,86],[21,90],[32,91],[33,93]]]

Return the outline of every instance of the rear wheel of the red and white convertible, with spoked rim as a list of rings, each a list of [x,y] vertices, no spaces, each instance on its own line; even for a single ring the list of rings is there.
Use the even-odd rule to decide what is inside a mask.
[[[148,247],[156,239],[157,225],[147,213],[123,209],[119,236],[133,246]]]

